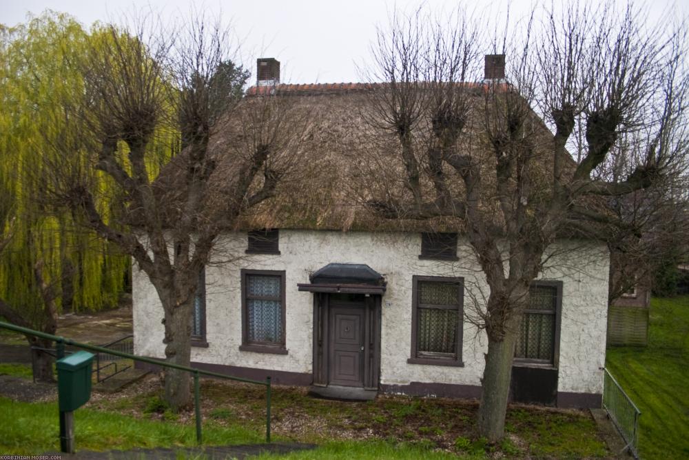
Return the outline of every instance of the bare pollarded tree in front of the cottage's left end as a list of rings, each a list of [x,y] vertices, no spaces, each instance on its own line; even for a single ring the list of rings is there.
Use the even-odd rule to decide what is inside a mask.
[[[72,130],[51,138],[45,183],[53,203],[147,274],[163,306],[165,357],[188,366],[199,274],[218,235],[298,173],[308,114],[270,92],[242,97],[248,72],[231,61],[219,23],[192,19],[172,40],[162,29],[147,35],[143,22],[97,30],[85,61],[72,63],[84,97],[56,105]],[[122,206],[99,204],[96,173],[112,185],[105,201]],[[165,399],[175,410],[189,403],[187,373],[165,370]]]

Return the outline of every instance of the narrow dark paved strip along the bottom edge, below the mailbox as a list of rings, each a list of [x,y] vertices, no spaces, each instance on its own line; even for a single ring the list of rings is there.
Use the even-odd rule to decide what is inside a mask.
[[[295,450],[308,450],[316,448],[313,444],[301,443],[270,443],[247,444],[244,446],[207,446],[200,448],[158,448],[158,449],[134,449],[134,450],[109,450],[107,452],[93,452],[85,450],[76,454],[59,454],[51,452],[46,455],[60,455],[62,459],[156,459],[176,460],[180,458],[193,458],[195,460],[219,460],[219,459],[245,459],[264,452],[275,454],[287,454]]]

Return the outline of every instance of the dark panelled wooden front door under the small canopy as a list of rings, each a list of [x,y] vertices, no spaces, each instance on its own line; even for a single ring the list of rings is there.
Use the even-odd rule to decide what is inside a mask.
[[[330,383],[364,386],[364,305],[330,308]]]

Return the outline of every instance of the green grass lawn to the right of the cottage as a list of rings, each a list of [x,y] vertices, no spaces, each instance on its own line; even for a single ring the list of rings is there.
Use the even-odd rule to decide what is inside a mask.
[[[648,347],[608,348],[606,366],[641,410],[641,458],[689,458],[689,296],[652,299]]]

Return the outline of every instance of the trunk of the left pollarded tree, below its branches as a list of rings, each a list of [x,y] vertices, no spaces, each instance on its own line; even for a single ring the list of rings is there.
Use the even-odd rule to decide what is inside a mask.
[[[172,297],[172,295],[170,296]],[[191,361],[192,301],[170,302],[165,308],[165,358],[168,363],[189,366]],[[177,306],[176,306],[177,305]],[[189,372],[165,368],[165,401],[174,411],[191,402]]]

